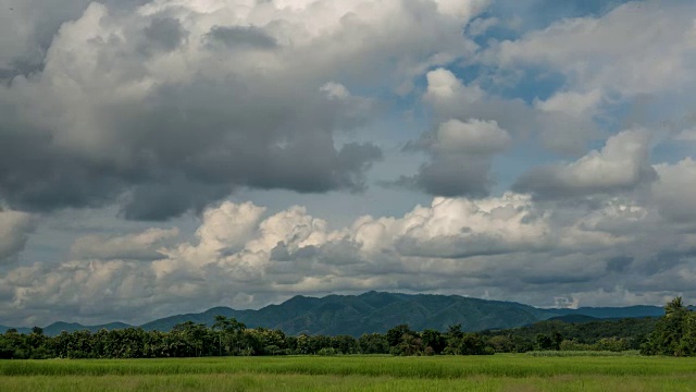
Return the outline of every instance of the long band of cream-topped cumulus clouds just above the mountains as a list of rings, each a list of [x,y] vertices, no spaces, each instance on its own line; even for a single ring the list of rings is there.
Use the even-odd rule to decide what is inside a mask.
[[[217,304],[260,306],[297,293],[364,290],[548,305],[567,293],[586,305],[596,304],[582,298],[597,298],[592,293],[598,284],[607,295],[619,290],[617,282],[630,293],[657,293],[664,280],[694,273],[684,257],[696,249],[696,237],[666,230],[648,207],[616,199],[571,212],[513,193],[439,197],[402,217],[365,216],[331,229],[302,207],[269,215],[251,203],[225,201],[204,211],[190,241],[173,243],[175,230],[88,236],[59,266],[10,270],[0,283],[12,301],[0,314],[138,322],[145,319],[133,315],[140,309],[152,318]],[[662,260],[658,269],[656,257]]]

